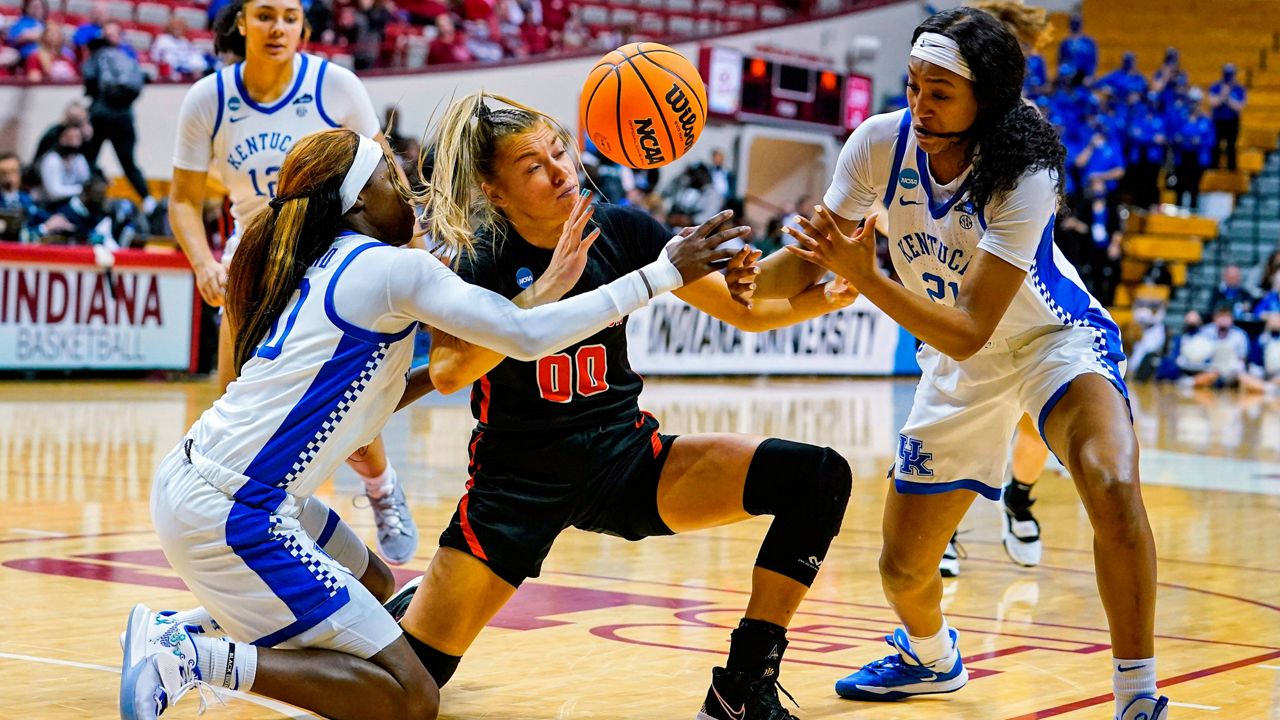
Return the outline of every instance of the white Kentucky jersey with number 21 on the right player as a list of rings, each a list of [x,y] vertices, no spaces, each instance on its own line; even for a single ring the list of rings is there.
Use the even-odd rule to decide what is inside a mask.
[[[908,290],[934,302],[955,305],[965,272],[978,250],[987,250],[1027,270],[1023,287],[996,327],[988,348],[1028,332],[1043,332],[1046,327],[1084,325],[1096,331],[1100,351],[1120,352],[1115,322],[1053,243],[1057,205],[1050,170],[1025,176],[1019,188],[992,201],[992,208],[978,208],[968,199],[961,201],[969,186],[968,169],[947,186],[933,181],[928,155],[916,145],[909,110],[872,118],[868,124],[873,120],[869,137],[855,133],[850,138],[851,146],[861,143],[858,151],[861,158],[846,158],[850,151],[846,147],[826,202],[844,217],[860,218],[863,214],[846,214],[856,211],[852,208],[856,191],[841,190],[863,188],[863,195],[869,196],[874,188],[874,196],[888,210],[890,255]],[[874,161],[869,161],[872,158]],[[870,177],[840,177],[841,172],[859,169]]]

